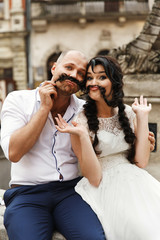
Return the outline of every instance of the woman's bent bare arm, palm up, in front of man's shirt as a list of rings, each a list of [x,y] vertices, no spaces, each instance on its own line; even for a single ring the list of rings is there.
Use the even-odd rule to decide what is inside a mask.
[[[102,179],[101,165],[94,152],[87,129],[74,121],[72,122],[73,126],[70,126],[61,115],[58,115],[56,121],[58,131],[71,134],[72,148],[79,160],[82,175],[92,185],[98,187]]]

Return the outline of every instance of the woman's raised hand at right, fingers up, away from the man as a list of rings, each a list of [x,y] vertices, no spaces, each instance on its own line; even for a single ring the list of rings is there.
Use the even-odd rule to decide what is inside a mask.
[[[149,113],[151,111],[151,104],[147,105],[147,98],[143,98],[143,96],[140,96],[140,99],[138,101],[138,98],[135,98],[134,103],[132,104],[132,109],[136,114],[143,114],[143,113]]]

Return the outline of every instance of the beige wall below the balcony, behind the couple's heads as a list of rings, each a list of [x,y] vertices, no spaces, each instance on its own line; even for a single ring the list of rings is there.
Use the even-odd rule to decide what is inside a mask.
[[[81,28],[77,22],[64,21],[46,22],[45,28],[39,29],[40,21],[33,20],[31,32],[33,80],[40,82],[47,79],[46,63],[53,53],[77,49],[91,58],[101,50],[117,48],[128,43],[139,34],[143,24],[143,20],[134,19],[126,21],[121,26],[118,21],[110,20],[87,23]],[[38,71],[40,68],[41,74]]]

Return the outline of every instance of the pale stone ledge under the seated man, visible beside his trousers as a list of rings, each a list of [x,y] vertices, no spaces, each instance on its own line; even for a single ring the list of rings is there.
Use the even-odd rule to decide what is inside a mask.
[[[5,190],[0,189],[0,197],[3,198]],[[5,211],[5,206],[0,205],[0,240],[8,240],[8,236],[3,225],[3,215]],[[53,234],[52,240],[66,240],[60,233],[55,232]]]

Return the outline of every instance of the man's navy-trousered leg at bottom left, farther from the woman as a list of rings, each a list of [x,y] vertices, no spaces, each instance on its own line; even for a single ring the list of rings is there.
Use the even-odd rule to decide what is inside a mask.
[[[26,187],[10,189],[5,193],[7,208],[4,224],[10,240],[51,240],[53,217],[44,205],[45,193],[26,190]],[[47,202],[47,196],[46,200]]]

